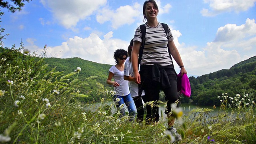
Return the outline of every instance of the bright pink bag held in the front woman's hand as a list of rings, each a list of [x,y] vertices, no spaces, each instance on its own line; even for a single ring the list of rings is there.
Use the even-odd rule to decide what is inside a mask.
[[[177,75],[178,78],[178,92],[180,92],[180,94],[183,94],[186,97],[190,97],[191,95],[191,88],[190,88],[190,82],[188,80],[188,76],[187,74],[183,74],[183,76],[181,76],[181,73],[179,73]]]

